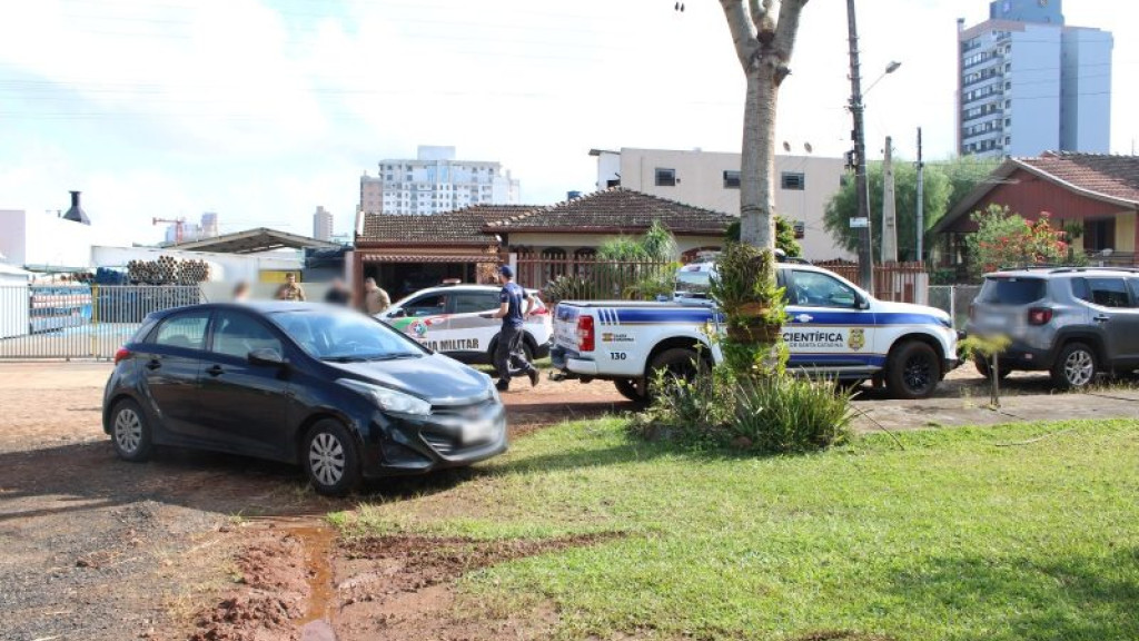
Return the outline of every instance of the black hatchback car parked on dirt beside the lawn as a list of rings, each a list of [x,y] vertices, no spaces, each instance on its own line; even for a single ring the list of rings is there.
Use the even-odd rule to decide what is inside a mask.
[[[330,495],[507,448],[489,376],[362,314],[297,302],[148,316],[115,355],[103,423],[128,461],[155,445],[284,461]]]

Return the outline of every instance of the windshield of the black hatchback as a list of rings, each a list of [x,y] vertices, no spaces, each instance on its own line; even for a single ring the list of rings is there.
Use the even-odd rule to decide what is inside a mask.
[[[354,311],[281,311],[269,318],[302,349],[322,360],[394,360],[426,354],[411,339]]]

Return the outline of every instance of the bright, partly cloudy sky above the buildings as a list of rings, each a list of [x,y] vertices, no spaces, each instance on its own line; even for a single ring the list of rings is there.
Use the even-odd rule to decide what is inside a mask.
[[[1115,35],[1112,151],[1139,122],[1139,3],[1067,0]],[[953,153],[957,18],[985,0],[859,0],[871,155]],[[902,63],[882,78],[891,60]],[[800,153],[850,148],[846,11],[812,0],[779,102]],[[590,148],[735,152],[744,76],[720,3],[687,0],[6,0],[0,209],[66,210],[156,242],[153,218],[222,233],[349,233],[360,176],[418,145],[498,161],[525,203],[592,190]]]

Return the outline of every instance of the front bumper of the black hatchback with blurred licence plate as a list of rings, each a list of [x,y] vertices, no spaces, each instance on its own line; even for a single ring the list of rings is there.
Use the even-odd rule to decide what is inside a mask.
[[[363,474],[423,474],[470,465],[507,451],[506,408],[497,400],[435,407],[428,416],[376,412],[366,445]]]

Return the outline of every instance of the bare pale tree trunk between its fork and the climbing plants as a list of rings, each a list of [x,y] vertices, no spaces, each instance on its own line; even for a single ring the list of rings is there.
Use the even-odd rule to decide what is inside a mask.
[[[739,181],[739,240],[760,249],[776,246],[776,107],[779,83],[771,65],[747,71],[744,147]]]

